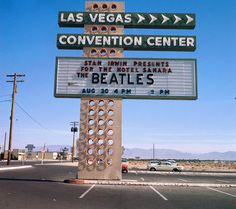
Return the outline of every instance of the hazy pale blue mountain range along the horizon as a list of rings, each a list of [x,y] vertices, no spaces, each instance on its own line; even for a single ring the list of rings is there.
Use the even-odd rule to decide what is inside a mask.
[[[46,150],[50,152],[59,152],[64,147],[71,150],[70,145],[46,145]],[[43,147],[36,147],[34,151],[41,151]],[[123,157],[125,158],[136,158],[140,159],[152,159],[152,149],[128,149],[125,148]],[[236,152],[209,152],[203,154],[193,154],[188,152],[180,152],[171,149],[155,149],[155,158],[157,159],[198,159],[198,160],[231,160],[236,161]]]

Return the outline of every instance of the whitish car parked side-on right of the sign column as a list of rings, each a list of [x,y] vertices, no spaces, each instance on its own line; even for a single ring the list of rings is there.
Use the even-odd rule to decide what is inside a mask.
[[[147,165],[147,169],[150,171],[174,171],[180,172],[184,170],[183,166],[178,166],[168,161],[150,161]]]

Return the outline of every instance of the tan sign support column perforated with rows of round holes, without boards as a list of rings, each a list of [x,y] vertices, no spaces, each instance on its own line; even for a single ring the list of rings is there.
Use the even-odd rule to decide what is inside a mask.
[[[88,2],[89,12],[123,12],[123,2]],[[86,34],[123,34],[124,26],[85,25]],[[123,57],[123,49],[84,47],[84,56]],[[106,91],[106,89],[104,89]],[[121,98],[81,98],[77,178],[116,179],[121,175]]]

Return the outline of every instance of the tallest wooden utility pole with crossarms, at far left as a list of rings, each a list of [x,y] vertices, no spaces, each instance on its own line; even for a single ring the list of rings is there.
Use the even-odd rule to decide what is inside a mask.
[[[13,120],[14,120],[14,105],[15,105],[15,96],[17,93],[17,86],[18,82],[24,82],[23,80],[17,80],[18,77],[24,77],[24,74],[11,74],[7,75],[7,77],[13,78],[11,81],[7,81],[13,83],[13,92],[12,92],[12,102],[11,102],[11,116],[10,116],[10,132],[9,132],[9,145],[8,145],[8,155],[7,155],[7,165],[10,165],[11,161],[11,152],[12,152],[12,128],[13,128]]]

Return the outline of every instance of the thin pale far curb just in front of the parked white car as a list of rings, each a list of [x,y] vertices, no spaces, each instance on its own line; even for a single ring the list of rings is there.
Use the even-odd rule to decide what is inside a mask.
[[[160,175],[202,175],[202,176],[236,176],[235,173],[213,173],[213,172],[165,172],[165,171],[129,171],[134,174],[160,174]]]

